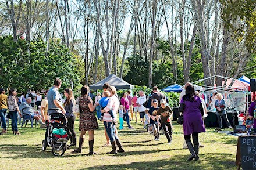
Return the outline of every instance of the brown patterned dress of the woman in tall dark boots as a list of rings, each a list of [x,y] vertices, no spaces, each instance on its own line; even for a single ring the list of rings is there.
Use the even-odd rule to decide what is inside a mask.
[[[98,129],[97,118],[94,113],[89,109],[88,104],[93,103],[91,97],[80,96],[79,97],[79,109],[80,109],[80,123],[79,131],[92,131]]]

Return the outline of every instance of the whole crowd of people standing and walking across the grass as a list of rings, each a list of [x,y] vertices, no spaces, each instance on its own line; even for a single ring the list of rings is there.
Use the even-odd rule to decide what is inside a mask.
[[[93,103],[93,95],[88,86],[81,88],[81,94],[77,99],[74,98],[73,91],[66,88],[64,95],[66,99],[62,102],[61,93],[61,79],[55,79],[54,85],[49,91],[45,92],[45,99],[42,99],[40,93],[35,94],[33,91],[28,91],[25,95],[22,93],[20,99],[16,98],[15,89],[10,88],[8,96],[5,95],[4,89],[0,89],[0,115],[1,121],[4,120],[3,115],[9,110],[9,115],[12,120],[13,134],[19,135],[17,129],[18,114],[22,117],[22,113],[29,113],[31,118],[34,118],[40,124],[47,126],[45,139],[48,136],[49,118],[51,113],[65,114],[67,118],[67,127],[69,129],[69,147],[76,147],[76,133],[74,131],[74,121],[76,114],[74,114],[73,107],[79,106],[79,146],[74,149],[73,153],[81,153],[86,132],[88,132],[88,145],[89,155],[95,154],[94,152],[94,131],[99,128],[98,121],[102,121],[105,127],[106,144],[105,146],[112,146],[109,154],[123,153],[122,143],[118,138],[118,115],[119,115],[119,129],[125,129],[127,124],[128,129],[133,129],[130,121],[135,123],[141,122],[141,128],[147,129],[148,132],[154,135],[154,140],[160,140],[161,130],[165,134],[167,144],[172,143],[172,109],[168,106],[167,97],[158,90],[155,86],[152,88],[150,96],[145,95],[143,91],[138,91],[131,95],[130,91],[124,92],[122,96],[118,97],[115,86],[108,83],[102,86],[103,92],[97,93],[95,102]],[[198,133],[205,132],[203,118],[205,116],[205,107],[195,92],[194,86],[188,84],[185,86],[186,90],[180,99],[179,111],[184,115],[183,133],[187,147],[191,153],[188,160],[198,160],[199,141]],[[137,95],[138,94],[138,95]],[[221,99],[219,99],[221,100]],[[218,101],[219,101],[218,100]],[[217,101],[217,100],[216,100]],[[222,101],[221,101],[222,102]],[[216,108],[222,108],[223,103],[219,104]],[[20,106],[19,106],[20,103]],[[40,114],[34,110],[35,104],[40,108]],[[97,112],[97,117],[94,114]],[[138,115],[140,120],[138,120]],[[7,133],[5,121],[2,121],[3,131],[2,135]],[[193,144],[191,142],[191,135]]]

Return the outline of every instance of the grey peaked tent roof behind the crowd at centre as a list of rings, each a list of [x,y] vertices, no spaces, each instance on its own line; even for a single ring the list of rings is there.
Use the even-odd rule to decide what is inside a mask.
[[[124,81],[123,79],[117,77],[115,74],[109,75],[109,77],[102,79],[93,85],[90,85],[90,89],[102,89],[102,86],[108,82],[110,85],[115,86],[116,89],[133,89],[134,85],[131,85]]]

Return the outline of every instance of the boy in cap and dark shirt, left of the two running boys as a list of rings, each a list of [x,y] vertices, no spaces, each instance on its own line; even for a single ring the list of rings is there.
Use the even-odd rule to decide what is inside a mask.
[[[158,110],[158,100],[153,100],[153,106],[150,107],[150,110],[146,111],[148,117],[150,117],[150,125],[153,127],[153,134],[155,136],[155,140],[159,140],[159,126],[157,122],[157,110]]]

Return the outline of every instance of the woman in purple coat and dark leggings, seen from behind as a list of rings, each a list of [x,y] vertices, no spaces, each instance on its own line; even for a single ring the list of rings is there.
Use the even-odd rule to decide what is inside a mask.
[[[187,147],[191,153],[187,160],[191,161],[193,158],[199,160],[198,133],[205,132],[204,124],[202,122],[204,111],[201,99],[198,96],[195,96],[194,86],[187,86],[186,95],[184,95],[180,101],[179,111],[183,112],[183,133]],[[190,139],[191,134],[194,147]]]

